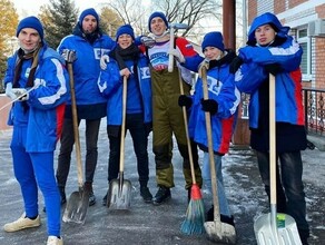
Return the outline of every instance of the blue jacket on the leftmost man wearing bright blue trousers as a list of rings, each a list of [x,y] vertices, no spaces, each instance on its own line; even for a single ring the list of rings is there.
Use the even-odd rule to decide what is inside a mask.
[[[52,151],[62,128],[65,102],[69,94],[69,77],[65,60],[46,43],[39,51],[39,63],[35,74],[35,89],[24,102],[16,101],[10,110],[8,125],[27,127],[26,150],[28,153]],[[13,82],[18,60],[16,52],[8,59],[4,84]],[[23,61],[19,87],[26,88],[31,60]],[[27,88],[28,90],[30,88]]]

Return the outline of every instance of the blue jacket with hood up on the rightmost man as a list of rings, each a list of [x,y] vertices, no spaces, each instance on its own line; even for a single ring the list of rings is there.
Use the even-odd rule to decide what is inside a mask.
[[[237,70],[235,81],[237,88],[250,94],[249,127],[258,128],[260,84],[268,78],[264,66],[268,63],[280,65],[282,72],[275,77],[276,87],[276,121],[304,125],[304,109],[302,104],[302,74],[299,65],[303,49],[287,35],[288,28],[279,26],[278,20],[270,13],[257,17],[249,31],[249,40],[255,40],[254,32],[259,26],[274,23],[278,27],[277,36],[283,39],[280,46],[258,47],[247,46],[239,49],[239,57],[244,65]]]

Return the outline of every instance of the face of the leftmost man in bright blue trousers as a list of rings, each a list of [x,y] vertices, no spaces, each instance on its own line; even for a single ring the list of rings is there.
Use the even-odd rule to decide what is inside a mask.
[[[33,51],[41,42],[41,38],[38,31],[33,28],[21,29],[18,35],[18,40],[21,49],[26,52]]]

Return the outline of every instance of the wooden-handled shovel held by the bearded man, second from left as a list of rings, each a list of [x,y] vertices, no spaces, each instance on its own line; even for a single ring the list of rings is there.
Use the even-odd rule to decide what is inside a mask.
[[[78,186],[79,190],[71,193],[62,220],[67,223],[83,224],[87,209],[89,206],[89,192],[83,189],[82,180],[82,165],[81,165],[81,151],[80,151],[80,138],[78,129],[78,115],[76,105],[76,92],[75,92],[75,81],[72,62],[68,61],[68,71],[70,77],[70,89],[71,89],[71,109],[72,109],[72,122],[73,122],[73,135],[76,144],[76,159],[77,159],[77,174],[78,174]]]

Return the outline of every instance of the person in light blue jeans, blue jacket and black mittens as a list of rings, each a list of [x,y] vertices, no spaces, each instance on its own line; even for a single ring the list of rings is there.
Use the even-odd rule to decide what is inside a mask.
[[[237,107],[240,101],[240,94],[235,86],[234,75],[229,74],[229,65],[236,58],[236,53],[229,49],[225,49],[223,35],[218,31],[205,35],[201,49],[205,60],[199,71],[201,71],[203,67],[207,68],[209,99],[204,99],[203,79],[199,77],[195,85],[194,95],[191,97],[180,96],[178,105],[190,109],[188,124],[189,137],[205,153],[203,180],[204,186],[210,192],[211,175],[205,112],[208,111],[211,116],[213,150],[218,184],[220,219],[223,223],[235,226],[224,188],[221,159],[229,149],[237,116]],[[185,63],[188,63],[189,60],[191,59],[186,58]],[[190,61],[190,66],[194,66],[193,60]],[[206,219],[214,220],[214,207],[207,212]]]

